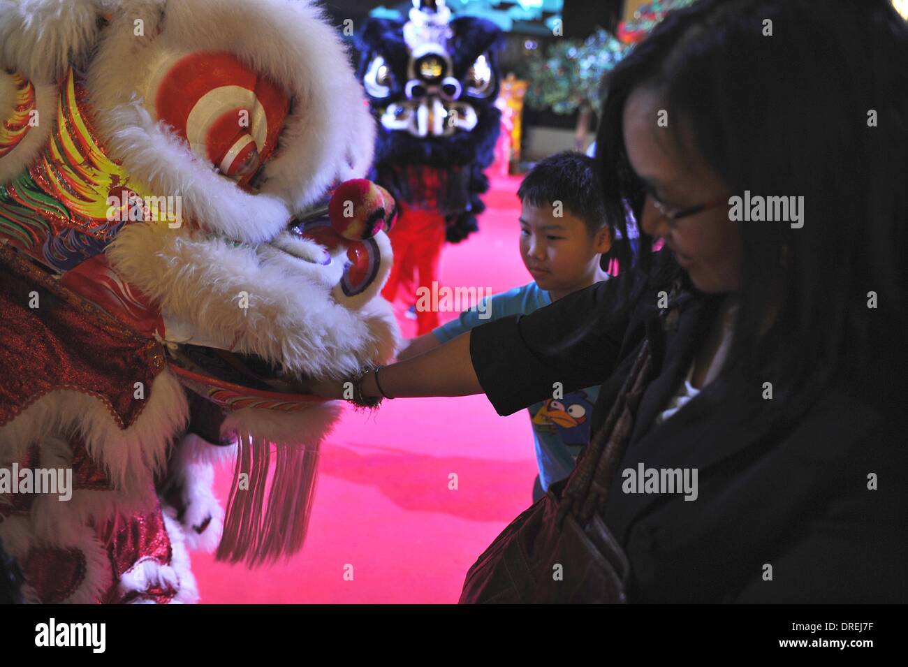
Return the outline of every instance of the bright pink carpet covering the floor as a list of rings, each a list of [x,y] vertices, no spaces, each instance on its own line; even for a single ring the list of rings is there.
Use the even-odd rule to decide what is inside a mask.
[[[479,234],[444,251],[442,285],[494,293],[531,280],[518,250],[518,185],[493,178]],[[347,409],[319,465],[301,553],[255,570],[193,553],[203,603],[455,603],[469,566],[530,505],[536,475],[526,412],[498,417],[481,394],[398,398],[371,416]],[[225,466],[222,503],[230,483]]]

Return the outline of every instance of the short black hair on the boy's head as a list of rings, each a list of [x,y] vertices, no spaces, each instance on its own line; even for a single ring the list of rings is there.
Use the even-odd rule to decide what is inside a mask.
[[[582,152],[563,151],[533,165],[520,183],[521,202],[541,208],[560,201],[564,209],[587,226],[592,238],[606,226],[606,206],[600,190],[597,162]]]

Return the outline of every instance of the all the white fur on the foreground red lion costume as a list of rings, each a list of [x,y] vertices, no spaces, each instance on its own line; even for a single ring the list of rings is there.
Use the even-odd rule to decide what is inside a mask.
[[[99,34],[96,20],[107,10],[113,25]],[[136,18],[145,23],[144,38],[133,35]],[[12,68],[35,83],[41,113],[39,127],[0,160],[0,182],[44,149],[55,122],[57,82],[69,64],[84,64],[94,49],[87,84],[96,129],[112,157],[154,195],[181,196],[185,217],[204,229],[261,244],[233,247],[186,228],[134,224],[108,249],[117,272],[222,347],[231,347],[239,334],[235,349],[287,371],[342,378],[368,361],[390,359],[400,348],[400,334],[390,304],[379,295],[390,269],[387,237],[378,239],[379,280],[369,293],[345,299],[335,287],[345,250],[332,252],[331,266],[321,267],[297,259],[318,256],[320,246],[281,234],[291,215],[321,197],[331,181],[361,176],[372,157],[374,123],[341,39],[321,10],[309,0],[0,0],[0,70]],[[149,56],[166,49],[229,51],[291,93],[293,113],[260,193],[246,193],[218,175],[144,110],[137,91],[147,78]],[[0,71],[0,115],[12,106],[7,78]],[[250,295],[245,313],[238,307],[241,291]],[[42,540],[83,550],[89,576],[68,602],[91,602],[111,585],[104,546],[85,529],[86,520],[128,515],[157,502],[143,491],[163,468],[173,436],[185,427],[188,407],[183,387],[167,370],[155,379],[147,400],[133,426],[122,430],[97,398],[58,390],[0,427],[0,460],[21,460],[25,448],[38,443],[48,466],[68,464],[71,452],[62,435],[77,429],[114,483],[114,492],[75,492],[68,504],[39,497],[31,515],[0,523],[0,540],[19,559]],[[339,412],[337,403],[296,414],[244,409],[227,418],[223,432],[249,429],[273,442],[311,444],[330,432]],[[137,564],[123,577],[123,591],[176,582],[174,602],[197,601],[186,542],[212,547],[222,523],[211,491],[211,462],[197,456],[204,448],[187,438],[173,462],[171,473],[187,482],[189,509],[185,535],[173,510],[164,510],[172,563]],[[232,450],[207,449],[216,456]],[[209,514],[212,525],[194,535],[193,522]],[[35,601],[34,591],[25,593]]]

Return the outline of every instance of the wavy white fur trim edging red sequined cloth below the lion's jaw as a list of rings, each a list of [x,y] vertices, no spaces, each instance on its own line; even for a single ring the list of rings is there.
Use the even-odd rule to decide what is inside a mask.
[[[173,436],[189,417],[183,387],[168,370],[155,378],[146,400],[142,414],[122,430],[97,398],[70,389],[53,391],[0,427],[0,459],[21,460],[30,443],[75,428],[82,432],[88,453],[106,467],[114,486],[131,488],[131,480],[163,468]]]

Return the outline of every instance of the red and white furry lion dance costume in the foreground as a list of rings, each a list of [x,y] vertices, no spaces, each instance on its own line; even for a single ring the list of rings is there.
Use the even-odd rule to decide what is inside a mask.
[[[18,599],[194,602],[187,547],[301,547],[340,408],[294,387],[399,344],[393,201],[360,178],[373,141],[309,0],[0,0],[0,574]],[[212,463],[234,454],[225,517]]]

